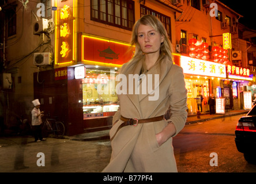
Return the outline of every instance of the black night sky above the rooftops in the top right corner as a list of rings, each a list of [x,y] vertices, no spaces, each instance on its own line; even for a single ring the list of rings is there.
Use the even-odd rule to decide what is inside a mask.
[[[241,16],[239,22],[250,29],[256,30],[255,1],[219,0]]]

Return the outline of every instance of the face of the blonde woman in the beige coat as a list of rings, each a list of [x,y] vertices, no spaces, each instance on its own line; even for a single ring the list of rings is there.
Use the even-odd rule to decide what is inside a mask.
[[[155,53],[159,51],[163,41],[164,37],[152,26],[143,24],[138,26],[138,43],[142,52]]]

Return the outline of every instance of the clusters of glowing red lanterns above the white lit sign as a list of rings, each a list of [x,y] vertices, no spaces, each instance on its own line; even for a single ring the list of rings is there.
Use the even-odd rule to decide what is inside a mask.
[[[209,49],[208,49],[208,43],[202,43],[202,41],[199,41],[197,39],[190,39],[189,40],[189,56],[194,57],[197,59],[203,59],[208,60],[210,58],[209,56]],[[228,51],[227,49],[223,49],[220,47],[213,47],[213,60],[216,63],[228,63]]]

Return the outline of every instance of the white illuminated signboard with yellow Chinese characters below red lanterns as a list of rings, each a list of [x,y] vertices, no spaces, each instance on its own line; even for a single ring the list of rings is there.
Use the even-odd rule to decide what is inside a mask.
[[[226,78],[225,64],[180,56],[180,66],[183,68],[185,74]]]

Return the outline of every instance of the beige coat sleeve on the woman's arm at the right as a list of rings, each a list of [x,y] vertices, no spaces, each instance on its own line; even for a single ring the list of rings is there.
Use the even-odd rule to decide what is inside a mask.
[[[169,88],[171,117],[167,121],[175,125],[176,136],[187,120],[187,89],[182,68],[177,66],[172,72],[174,77]]]

